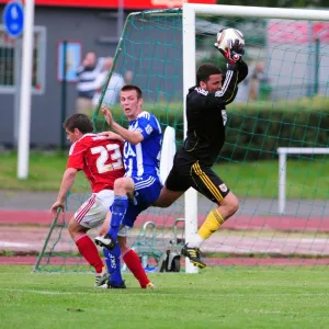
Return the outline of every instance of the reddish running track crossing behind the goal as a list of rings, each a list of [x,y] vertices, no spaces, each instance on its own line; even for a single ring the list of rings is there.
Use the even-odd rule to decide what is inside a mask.
[[[67,213],[66,218],[72,214]],[[164,219],[164,222],[163,222]],[[140,227],[151,220],[158,227],[172,228],[174,216],[159,216],[148,213],[136,222]],[[204,216],[198,218],[198,224]],[[46,211],[0,211],[0,251],[13,251],[16,257],[0,257],[0,264],[34,264],[43,246],[52,223],[49,212]],[[326,237],[317,237],[316,232],[329,232],[329,220],[320,217],[295,218],[291,216],[235,216],[224,224],[228,230],[226,236],[214,236],[203,246],[204,252],[235,254],[235,258],[205,259],[212,265],[314,265],[329,264],[329,242]],[[256,231],[308,231],[311,237],[275,237],[257,234],[254,237],[245,232]],[[245,232],[243,232],[245,231]],[[67,230],[64,238],[69,240]],[[59,250],[67,251],[68,245],[58,245]],[[69,251],[75,250],[71,245]],[[76,251],[76,250],[75,250]],[[275,258],[249,258],[250,254],[275,254]],[[26,254],[26,256],[23,256]],[[299,254],[299,258],[287,258],[290,254]],[[320,254],[321,259],[310,259]],[[246,256],[246,257],[241,257]],[[280,257],[281,256],[281,257]],[[283,257],[282,257],[283,256]],[[284,257],[285,256],[285,257]],[[307,256],[305,258],[304,256]],[[56,260],[54,260],[56,262]]]

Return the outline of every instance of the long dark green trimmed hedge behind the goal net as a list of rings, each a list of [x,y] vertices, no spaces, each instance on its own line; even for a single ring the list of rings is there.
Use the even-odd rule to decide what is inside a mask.
[[[175,128],[177,143],[183,141],[182,102],[146,103],[144,110],[154,113],[162,126]],[[120,105],[114,117],[123,125],[127,121]],[[329,99],[299,99],[291,102],[232,103],[227,106],[226,143],[218,159],[249,161],[273,159],[277,147],[328,147]],[[107,128],[102,115],[94,116],[98,131]]]

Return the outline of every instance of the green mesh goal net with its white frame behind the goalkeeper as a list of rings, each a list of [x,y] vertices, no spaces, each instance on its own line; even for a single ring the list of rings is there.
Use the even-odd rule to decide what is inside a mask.
[[[202,246],[209,265],[316,265],[329,263],[329,13],[315,10],[184,4],[183,10],[147,11],[127,18],[113,71],[133,72],[144,92],[144,110],[157,115],[162,128],[175,129],[177,147],[184,136],[184,95],[202,63],[225,70],[213,46],[220,29],[245,34],[249,75],[227,106],[225,146],[214,171],[238,196],[240,207]],[[93,114],[98,132],[106,129],[100,106],[110,72]],[[122,110],[112,105],[126,125]],[[207,115],[205,113],[205,115]],[[308,148],[287,152],[285,168],[277,148]],[[309,151],[310,149],[310,151]],[[279,205],[284,173],[284,209]],[[73,212],[90,191],[71,193]],[[282,198],[282,195],[281,195]],[[215,205],[189,191],[167,209],[143,213],[129,243],[144,265],[157,269],[166,253],[180,246]],[[54,220],[36,270],[88,269],[67,234],[67,220]],[[97,231],[91,231],[94,236]],[[162,258],[163,260],[163,258]],[[184,260],[180,260],[184,266]],[[163,264],[162,264],[163,265]],[[178,264],[175,263],[175,266]],[[193,272],[186,264],[186,272]],[[163,270],[163,269],[162,269]]]

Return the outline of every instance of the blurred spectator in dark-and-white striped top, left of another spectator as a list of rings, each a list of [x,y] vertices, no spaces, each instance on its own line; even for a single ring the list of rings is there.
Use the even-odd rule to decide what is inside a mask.
[[[77,70],[78,76],[78,98],[76,111],[78,113],[88,113],[92,109],[92,98],[94,94],[94,82],[103,67],[103,60],[97,60],[94,53],[87,53]]]

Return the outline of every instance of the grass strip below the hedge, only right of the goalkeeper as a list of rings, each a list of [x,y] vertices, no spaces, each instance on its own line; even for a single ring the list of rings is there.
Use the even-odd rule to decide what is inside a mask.
[[[329,159],[287,160],[286,197],[327,200]],[[214,171],[242,197],[277,197],[279,161],[225,163]]]

